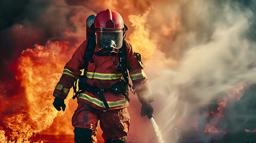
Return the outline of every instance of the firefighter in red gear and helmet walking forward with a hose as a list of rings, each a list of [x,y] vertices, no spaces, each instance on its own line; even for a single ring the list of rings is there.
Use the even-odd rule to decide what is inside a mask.
[[[90,21],[90,20],[89,20]],[[72,117],[75,142],[97,142],[97,123],[103,130],[105,142],[126,142],[129,131],[128,74],[132,89],[141,102],[141,117],[153,117],[153,101],[144,64],[140,54],[132,50],[131,43],[125,40],[128,30],[121,15],[107,9],[95,16],[90,27],[92,35],[82,42],[64,66],[63,74],[57,83],[53,96],[54,107],[64,111],[64,99],[69,89],[78,91],[78,107]],[[81,70],[84,69],[84,75]]]

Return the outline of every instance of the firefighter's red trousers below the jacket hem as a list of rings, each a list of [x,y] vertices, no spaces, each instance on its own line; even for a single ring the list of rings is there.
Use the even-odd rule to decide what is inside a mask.
[[[98,110],[84,102],[79,102],[72,117],[72,125],[75,128],[92,130],[92,142],[97,142],[97,125],[100,120],[102,137],[105,139],[126,139],[129,131],[129,113],[127,108],[117,110]]]

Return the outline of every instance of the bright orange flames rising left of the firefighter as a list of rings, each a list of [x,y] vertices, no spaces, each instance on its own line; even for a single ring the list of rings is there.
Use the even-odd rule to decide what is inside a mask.
[[[58,114],[63,114],[52,106],[52,94],[67,61],[68,48],[67,41],[49,41],[45,46],[35,45],[34,49],[22,52],[16,79],[24,88],[27,107],[4,117],[3,123],[8,131],[1,130],[1,141],[5,141],[7,136],[11,141],[27,142],[34,133],[49,128]]]

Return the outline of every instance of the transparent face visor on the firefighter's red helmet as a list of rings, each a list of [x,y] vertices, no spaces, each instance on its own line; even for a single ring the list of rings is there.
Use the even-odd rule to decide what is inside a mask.
[[[122,47],[124,33],[122,31],[116,32],[99,32],[98,38],[102,48],[115,48]]]

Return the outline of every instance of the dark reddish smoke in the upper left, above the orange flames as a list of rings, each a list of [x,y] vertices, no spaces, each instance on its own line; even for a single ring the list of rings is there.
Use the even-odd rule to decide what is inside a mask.
[[[90,13],[85,8],[75,8],[64,1],[1,1],[0,24],[0,80],[14,80],[8,68],[16,63],[21,51],[35,44],[45,45],[48,40],[76,43],[76,38],[65,35],[69,29],[76,33],[71,18],[79,11]],[[10,79],[11,78],[11,79]]]

